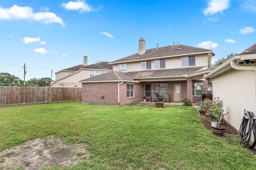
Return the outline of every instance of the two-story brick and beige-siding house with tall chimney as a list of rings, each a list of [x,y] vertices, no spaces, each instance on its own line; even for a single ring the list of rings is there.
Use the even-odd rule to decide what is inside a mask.
[[[168,45],[145,50],[139,39],[136,54],[111,62],[113,71],[82,80],[82,102],[124,105],[145,96],[169,96],[171,102],[188,97],[202,100],[208,90],[204,74],[210,72],[212,51],[186,45]]]

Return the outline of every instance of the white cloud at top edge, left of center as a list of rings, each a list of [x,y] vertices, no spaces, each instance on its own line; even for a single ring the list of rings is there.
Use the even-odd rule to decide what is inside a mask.
[[[86,4],[85,1],[83,0],[70,1],[68,3],[63,3],[61,6],[63,6],[67,10],[78,10],[80,14],[84,12],[94,11],[92,6],[90,6],[89,4]]]

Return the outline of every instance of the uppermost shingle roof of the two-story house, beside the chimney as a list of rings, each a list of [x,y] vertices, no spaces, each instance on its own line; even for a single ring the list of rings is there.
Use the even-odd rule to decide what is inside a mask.
[[[182,55],[193,55],[195,53],[210,53],[211,50],[201,49],[196,47],[190,47],[186,45],[168,45],[166,47],[148,49],[144,54],[139,55],[138,53],[130,55],[128,57],[124,57],[122,59],[118,59],[116,61],[111,62],[114,63],[122,63],[129,61],[140,61],[146,59],[154,59],[154,58],[164,58],[164,57],[172,57],[172,56],[182,56]]]

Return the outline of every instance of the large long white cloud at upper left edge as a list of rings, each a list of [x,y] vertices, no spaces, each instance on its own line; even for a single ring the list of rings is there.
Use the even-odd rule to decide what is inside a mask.
[[[0,20],[35,20],[41,23],[60,23],[64,25],[63,20],[52,12],[34,13],[30,6],[17,6],[11,8],[2,8],[0,6]]]

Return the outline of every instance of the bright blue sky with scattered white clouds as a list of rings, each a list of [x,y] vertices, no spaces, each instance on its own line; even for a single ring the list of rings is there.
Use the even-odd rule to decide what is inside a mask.
[[[213,50],[212,61],[256,43],[256,0],[1,0],[0,72],[24,79],[146,49]]]

